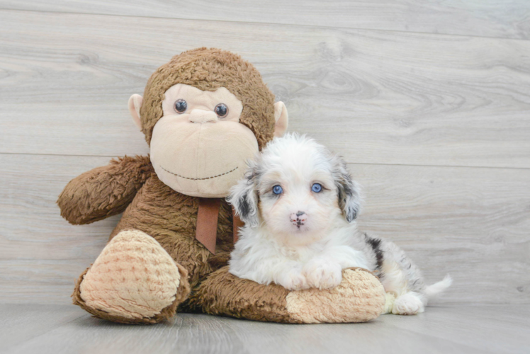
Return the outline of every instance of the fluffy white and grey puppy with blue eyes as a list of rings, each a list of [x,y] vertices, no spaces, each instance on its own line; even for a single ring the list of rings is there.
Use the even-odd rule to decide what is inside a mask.
[[[245,226],[230,273],[288,290],[339,285],[342,270],[375,272],[395,297],[394,314],[423,312],[427,299],[451,285],[426,287],[419,268],[390,241],[356,229],[359,185],[346,164],[321,144],[296,134],[276,138],[249,162],[229,201]]]

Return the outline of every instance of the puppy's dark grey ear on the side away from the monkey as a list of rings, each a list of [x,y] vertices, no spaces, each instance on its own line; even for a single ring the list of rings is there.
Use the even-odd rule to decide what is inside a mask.
[[[348,222],[352,222],[361,210],[361,188],[346,169],[346,163],[339,156],[334,156],[334,178],[337,185],[337,197],[342,215]]]

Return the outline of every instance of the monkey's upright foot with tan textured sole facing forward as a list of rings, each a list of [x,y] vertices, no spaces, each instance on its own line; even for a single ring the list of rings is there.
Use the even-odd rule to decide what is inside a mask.
[[[190,292],[187,276],[151,236],[124,230],[81,274],[72,297],[101,319],[154,324],[174,316]]]

